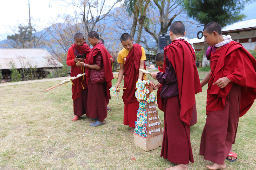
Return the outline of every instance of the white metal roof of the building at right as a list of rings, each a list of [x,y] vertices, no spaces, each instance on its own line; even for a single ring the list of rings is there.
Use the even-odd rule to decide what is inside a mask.
[[[236,22],[231,25],[227,25],[226,27],[222,28],[221,31],[232,31],[232,30],[239,30],[245,28],[256,27],[256,19],[250,19],[247,21]],[[190,40],[192,43],[202,43],[205,41],[205,37],[203,36],[201,39],[193,38]]]

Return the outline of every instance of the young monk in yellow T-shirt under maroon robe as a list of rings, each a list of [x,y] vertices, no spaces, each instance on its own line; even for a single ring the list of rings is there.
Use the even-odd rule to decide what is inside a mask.
[[[120,86],[124,75],[124,88],[126,88],[122,96],[124,102],[124,125],[132,127],[131,132],[134,132],[139,108],[139,102],[135,97],[135,86],[138,79],[142,80],[144,73],[139,69],[145,69],[146,54],[140,44],[133,44],[130,34],[122,34],[120,40],[124,48],[118,53],[117,62],[120,64],[120,70],[115,87]],[[146,79],[145,75],[144,78]]]

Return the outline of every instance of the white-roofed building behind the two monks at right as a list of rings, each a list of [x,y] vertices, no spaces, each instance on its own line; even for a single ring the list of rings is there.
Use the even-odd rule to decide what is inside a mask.
[[[231,35],[232,40],[239,42],[247,50],[254,50],[256,47],[256,19],[236,22],[222,28],[223,35]],[[204,48],[205,37],[190,40],[196,51]]]

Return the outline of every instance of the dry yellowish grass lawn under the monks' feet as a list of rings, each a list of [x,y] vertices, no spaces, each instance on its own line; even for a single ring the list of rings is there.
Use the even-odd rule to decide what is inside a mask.
[[[200,72],[200,77],[205,76]],[[0,87],[0,170],[7,169],[165,169],[175,164],[160,158],[161,147],[152,151],[134,146],[130,127],[123,125],[124,104],[110,100],[106,124],[91,127],[83,117],[72,122],[71,83],[41,82]],[[113,84],[116,79],[113,80]],[[155,91],[156,93],[156,91]],[[206,87],[196,95],[198,123],[191,127],[195,163],[190,170],[206,169],[211,162],[199,155],[206,120]],[[237,162],[227,169],[256,169],[255,104],[240,118],[236,144]],[[162,122],[163,112],[159,111]],[[132,161],[134,157],[136,161]]]

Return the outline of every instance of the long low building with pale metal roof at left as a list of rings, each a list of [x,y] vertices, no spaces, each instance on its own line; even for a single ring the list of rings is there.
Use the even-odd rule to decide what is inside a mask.
[[[46,49],[2,48],[0,49],[0,69],[5,81],[10,81],[12,74],[10,62],[14,63],[15,68],[19,71],[22,68],[29,68],[29,66],[37,68],[36,79],[45,78],[48,74],[47,69],[63,67]],[[24,76],[22,79],[24,80]]]

